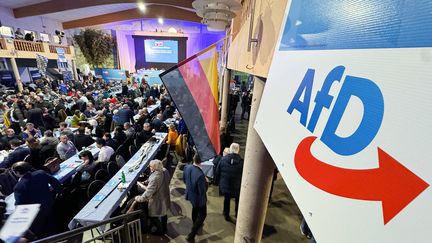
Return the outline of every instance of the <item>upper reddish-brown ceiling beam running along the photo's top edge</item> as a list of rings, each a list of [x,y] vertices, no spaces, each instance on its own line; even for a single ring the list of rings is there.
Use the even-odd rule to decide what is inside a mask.
[[[168,4],[192,8],[192,0],[144,0],[146,4]],[[38,16],[66,10],[118,3],[137,3],[137,0],[51,0],[13,9],[15,18]]]

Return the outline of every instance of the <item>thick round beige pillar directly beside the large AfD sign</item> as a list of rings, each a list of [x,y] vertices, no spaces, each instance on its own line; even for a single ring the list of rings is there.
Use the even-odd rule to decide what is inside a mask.
[[[273,159],[253,128],[264,85],[262,80],[255,77],[235,231],[236,243],[261,241],[275,168]]]

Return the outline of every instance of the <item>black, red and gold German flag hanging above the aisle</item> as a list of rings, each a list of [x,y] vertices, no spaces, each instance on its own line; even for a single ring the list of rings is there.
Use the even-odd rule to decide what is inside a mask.
[[[161,73],[202,161],[220,151],[216,44]]]

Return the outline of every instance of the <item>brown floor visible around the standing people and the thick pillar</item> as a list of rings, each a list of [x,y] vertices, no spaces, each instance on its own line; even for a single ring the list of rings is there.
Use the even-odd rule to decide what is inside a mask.
[[[232,134],[234,142],[241,146],[244,158],[248,121],[236,117],[236,131]],[[247,163],[247,161],[245,161]],[[185,237],[192,227],[192,207],[184,198],[185,185],[182,181],[183,172],[176,168],[171,180],[171,214],[168,219],[168,233],[163,237],[145,235],[145,242],[186,242]],[[266,200],[266,199],[259,199]],[[234,212],[234,201],[231,203]],[[207,218],[197,242],[233,242],[235,225],[226,222],[222,215],[223,197],[219,196],[218,188],[211,185],[208,190]],[[232,213],[232,217],[234,217]],[[269,203],[262,242],[307,242],[300,234],[300,211],[288,188],[280,176],[275,181],[273,195]]]

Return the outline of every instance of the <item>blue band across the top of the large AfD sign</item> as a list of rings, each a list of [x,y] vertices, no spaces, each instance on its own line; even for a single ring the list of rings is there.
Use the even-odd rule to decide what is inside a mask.
[[[293,0],[280,50],[432,46],[430,0]]]

